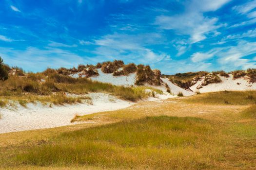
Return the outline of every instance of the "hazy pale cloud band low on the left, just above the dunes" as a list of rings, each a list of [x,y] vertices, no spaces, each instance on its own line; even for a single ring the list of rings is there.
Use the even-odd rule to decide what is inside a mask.
[[[96,63],[90,58],[79,56],[71,51],[58,48],[47,47],[38,49],[36,47],[27,47],[25,50],[16,50],[13,48],[0,47],[0,56],[4,62],[10,66],[19,66],[28,71],[42,71],[47,67],[72,68],[81,63]]]

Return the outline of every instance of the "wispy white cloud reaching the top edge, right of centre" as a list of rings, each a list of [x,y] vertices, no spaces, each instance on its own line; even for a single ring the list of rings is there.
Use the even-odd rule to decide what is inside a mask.
[[[230,0],[192,0],[186,4],[185,12],[174,16],[156,17],[155,24],[161,29],[175,30],[177,34],[190,35],[190,42],[196,43],[207,38],[209,33],[217,35],[217,17],[205,17],[204,12],[216,11]]]

